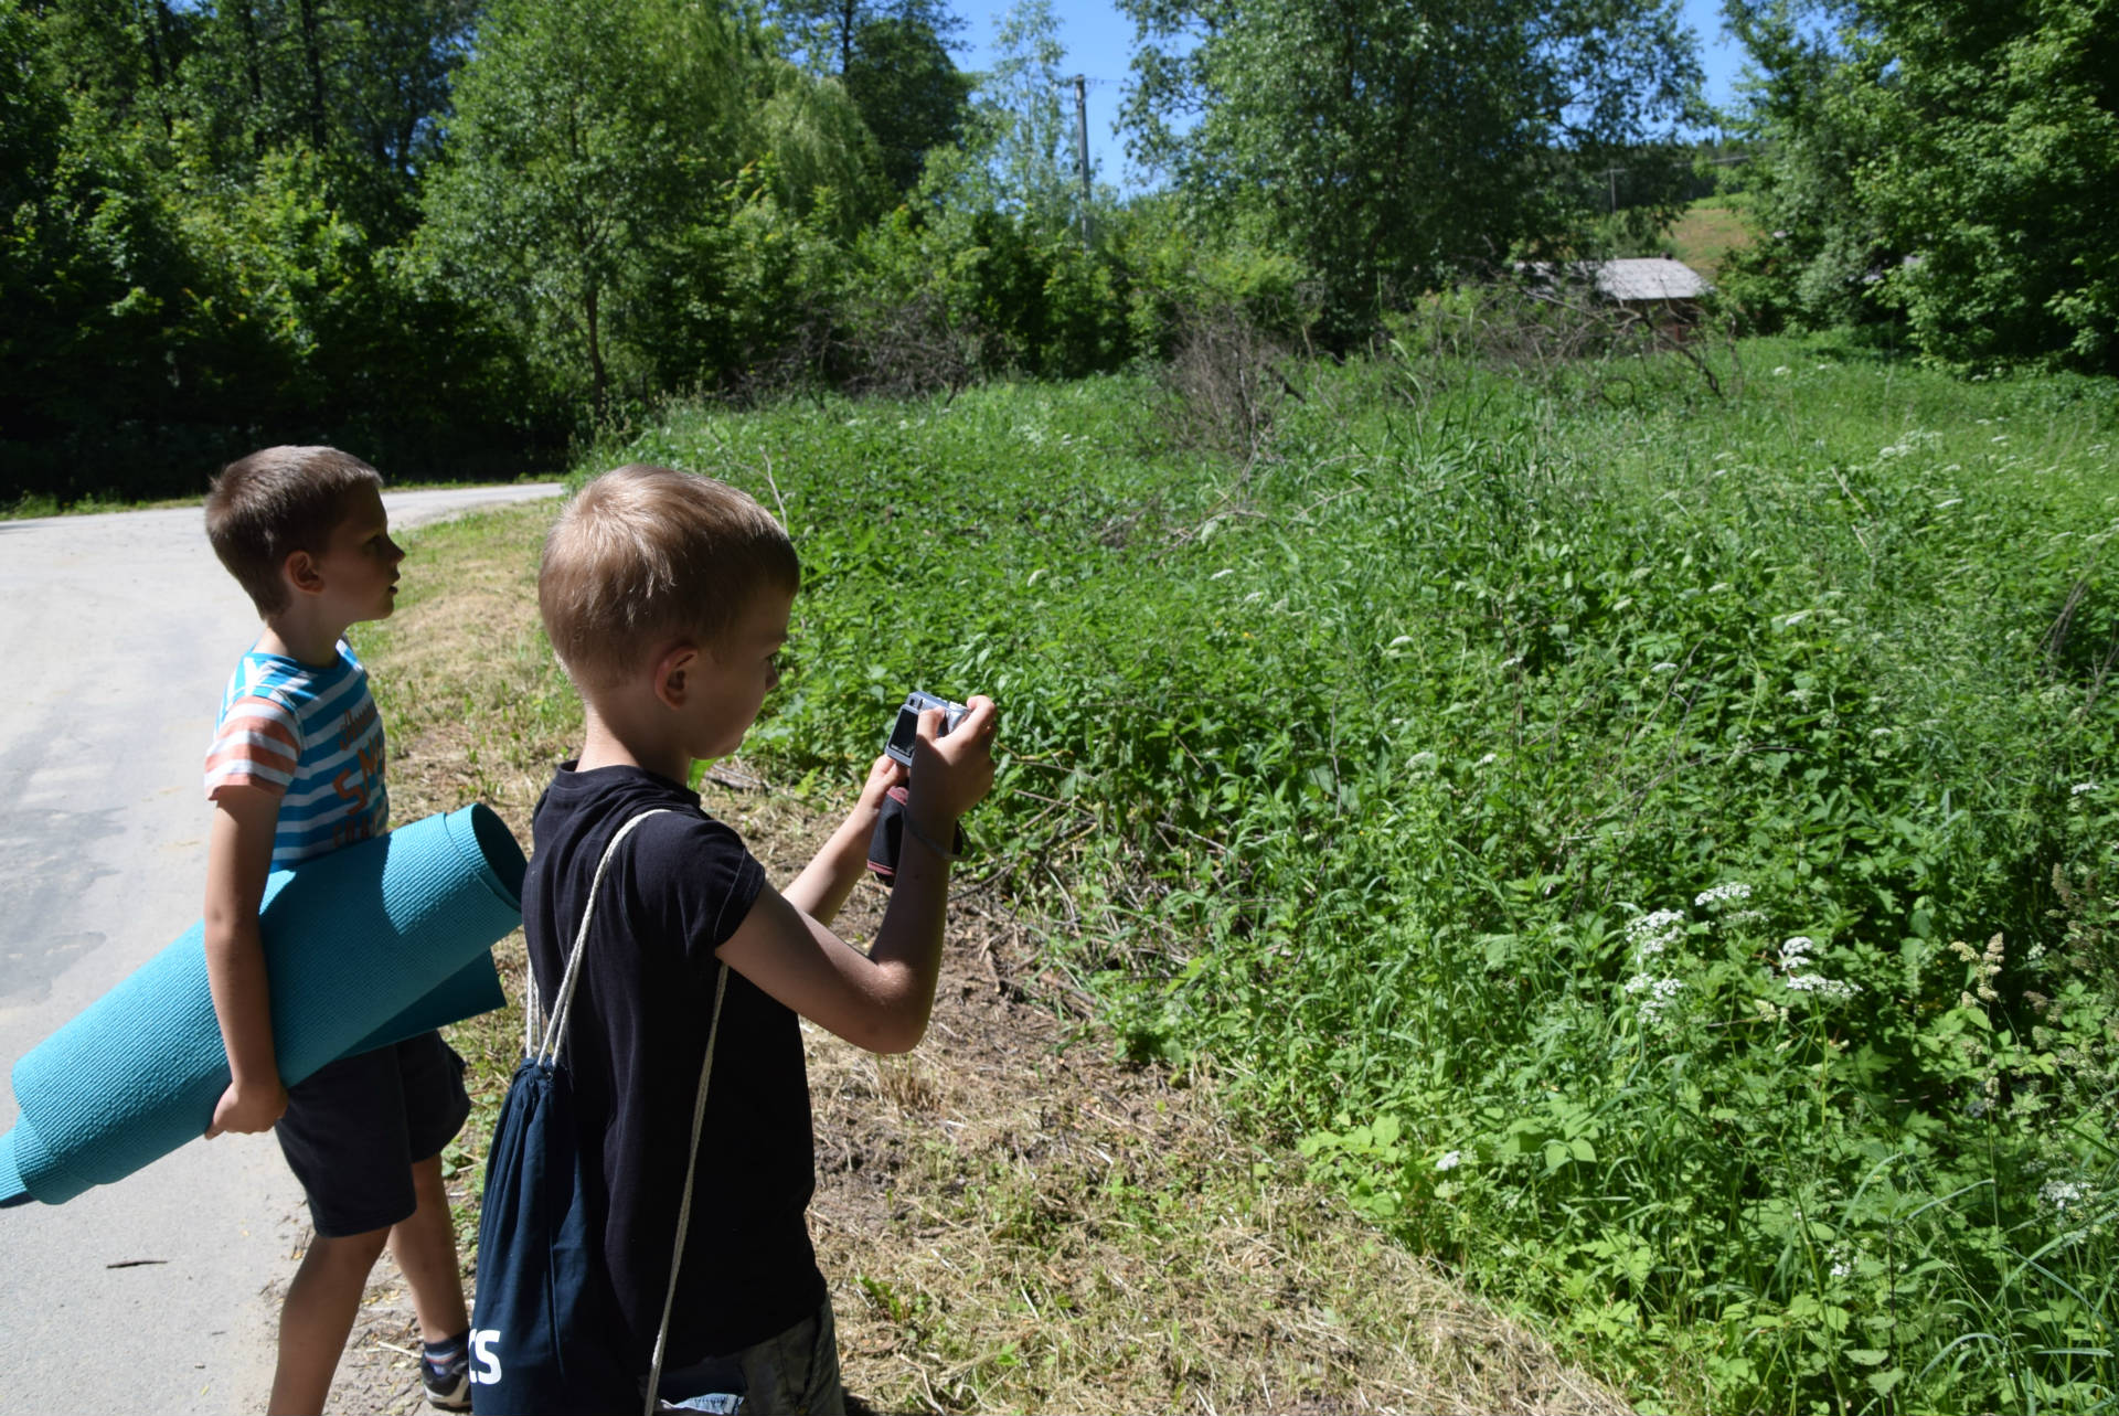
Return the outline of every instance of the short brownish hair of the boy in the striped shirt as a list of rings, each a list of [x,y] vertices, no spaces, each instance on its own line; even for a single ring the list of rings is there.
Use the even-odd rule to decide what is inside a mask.
[[[384,485],[381,473],[337,447],[265,447],[229,462],[206,494],[206,538],[259,615],[292,596],[280,566],[295,551],[322,555],[345,519],[348,498]]]

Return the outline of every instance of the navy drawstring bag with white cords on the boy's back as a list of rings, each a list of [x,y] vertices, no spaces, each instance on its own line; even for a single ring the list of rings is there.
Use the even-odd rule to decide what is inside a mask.
[[[542,1039],[536,1026],[534,977],[526,990],[523,1062],[509,1081],[494,1145],[485,1157],[479,1293],[470,1310],[473,1416],[606,1416],[640,1405],[642,1399],[640,1382],[619,1361],[617,1295],[589,1225],[581,1132],[574,1128],[574,1083],[559,1051],[604,867],[610,865],[619,842],[648,816],[655,812],[642,812],[619,827],[595,867],[581,931],[574,935],[574,950],[566,960],[566,977],[559,981]],[[727,981],[729,971],[723,969],[714,990],[714,1020],[706,1034],[699,1100],[693,1107],[693,1166],[699,1155],[706,1085],[714,1068],[714,1034],[720,1028]],[[648,1412],[655,1410],[661,1384],[663,1340],[676,1299],[676,1263],[684,1253],[684,1229],[691,1221],[691,1183],[693,1174],[687,1172],[670,1293],[663,1299],[655,1367],[646,1382]]]

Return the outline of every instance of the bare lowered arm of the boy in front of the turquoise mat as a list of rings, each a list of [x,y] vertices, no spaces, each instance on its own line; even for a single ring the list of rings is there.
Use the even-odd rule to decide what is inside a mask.
[[[278,822],[280,797],[263,786],[231,784],[214,795],[206,837],[206,981],[229,1049],[231,1081],[214,1107],[208,1136],[269,1130],[286,1111],[259,937],[259,901],[271,873]]]

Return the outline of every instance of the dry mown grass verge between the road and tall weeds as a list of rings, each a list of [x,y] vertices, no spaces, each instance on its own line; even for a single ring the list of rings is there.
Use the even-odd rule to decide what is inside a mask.
[[[398,615],[362,636],[392,742],[398,820],[470,799],[528,844],[578,714],[536,632],[551,507],[411,536]],[[731,774],[737,776],[737,774]],[[850,784],[852,786],[852,784]],[[831,812],[706,782],[773,878]],[[886,895],[841,916],[873,935]],[[960,897],[928,1041],[873,1058],[805,1028],[816,1115],[812,1232],[848,1391],[890,1412],[1623,1412],[1549,1346],[1468,1299],[1301,1168],[1259,1151],[1212,1079],[1112,1062],[1036,967],[1036,931]],[[521,941],[500,950],[511,996]],[[456,1028],[479,1111],[451,1151],[475,1232],[483,1149],[519,1013]],[[470,1244],[466,1242],[466,1265]],[[377,1270],[333,1412],[422,1410],[417,1338]]]

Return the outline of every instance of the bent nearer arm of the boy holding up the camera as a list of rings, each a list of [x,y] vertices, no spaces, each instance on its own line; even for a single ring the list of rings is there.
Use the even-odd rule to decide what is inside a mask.
[[[934,736],[941,712],[920,714],[907,803],[911,829],[869,954],[771,888],[720,945],[725,964],[809,1022],[869,1051],[911,1051],[926,1034],[934,1007],[949,903],[949,859],[934,842],[951,839],[958,816],[994,784],[994,700],[973,697],[971,710],[947,738]]]

